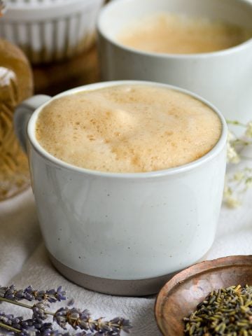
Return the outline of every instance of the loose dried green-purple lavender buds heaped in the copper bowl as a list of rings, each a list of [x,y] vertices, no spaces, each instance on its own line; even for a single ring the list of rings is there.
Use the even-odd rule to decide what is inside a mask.
[[[252,286],[230,286],[212,291],[197,305],[186,323],[185,335],[252,335]]]

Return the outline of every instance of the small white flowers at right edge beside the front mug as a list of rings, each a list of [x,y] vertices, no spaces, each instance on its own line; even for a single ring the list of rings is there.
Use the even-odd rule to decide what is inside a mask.
[[[244,160],[242,150],[252,145],[252,121],[246,125],[235,120],[227,120],[230,125],[244,127],[244,135],[237,137],[234,132],[228,132],[228,163],[237,165]],[[248,158],[246,158],[248,159]],[[241,196],[252,186],[252,168],[245,167],[232,174],[226,174],[223,202],[230,208],[241,205]]]

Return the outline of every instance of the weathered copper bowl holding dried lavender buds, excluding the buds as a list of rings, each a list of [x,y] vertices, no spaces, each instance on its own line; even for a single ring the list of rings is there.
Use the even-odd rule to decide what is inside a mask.
[[[176,274],[155,302],[155,318],[162,335],[184,335],[183,317],[189,316],[211,290],[237,284],[252,285],[252,255],[203,261]]]

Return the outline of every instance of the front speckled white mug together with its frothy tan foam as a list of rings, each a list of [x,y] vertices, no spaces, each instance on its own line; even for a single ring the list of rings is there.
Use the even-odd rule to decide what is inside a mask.
[[[21,104],[23,146],[29,116],[38,220],[64,276],[103,293],[147,295],[209,251],[227,139],[214,106],[160,83],[85,85]]]

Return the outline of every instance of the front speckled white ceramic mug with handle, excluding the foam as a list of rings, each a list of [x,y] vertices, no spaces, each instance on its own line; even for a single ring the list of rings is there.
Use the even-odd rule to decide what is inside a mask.
[[[52,99],[136,83],[171,87],[210,106],[222,123],[218,143],[199,160],[181,167],[123,174],[69,165],[36,140],[36,120]],[[27,125],[31,182],[52,262],[68,279],[92,290],[119,295],[158,292],[167,274],[200,260],[214,241],[225,176],[223,116],[195,94],[151,82],[95,83],[52,99],[34,96],[15,112],[23,146],[25,124],[31,116]]]

